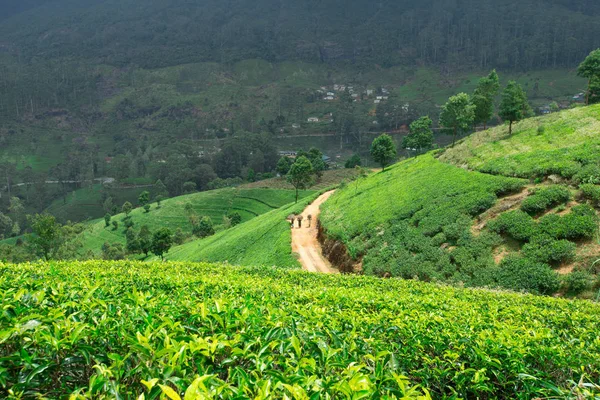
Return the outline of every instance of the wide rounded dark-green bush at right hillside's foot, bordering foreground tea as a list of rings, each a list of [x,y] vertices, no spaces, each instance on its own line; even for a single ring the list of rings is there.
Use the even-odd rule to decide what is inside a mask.
[[[509,256],[500,263],[498,284],[506,289],[550,295],[560,288],[560,277],[547,264]]]

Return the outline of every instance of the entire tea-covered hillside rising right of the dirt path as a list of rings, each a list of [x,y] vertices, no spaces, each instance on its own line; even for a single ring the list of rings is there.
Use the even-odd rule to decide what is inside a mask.
[[[529,119],[511,137],[504,126],[477,132],[439,159],[339,190],[323,206],[330,260],[378,276],[594,296],[599,110]]]

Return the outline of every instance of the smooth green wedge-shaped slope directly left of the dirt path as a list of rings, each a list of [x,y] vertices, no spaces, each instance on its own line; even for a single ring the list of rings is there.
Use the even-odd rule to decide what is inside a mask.
[[[298,204],[289,204],[209,238],[175,247],[167,259],[299,268],[292,254],[290,224],[286,217],[300,213],[314,197],[307,196]]]

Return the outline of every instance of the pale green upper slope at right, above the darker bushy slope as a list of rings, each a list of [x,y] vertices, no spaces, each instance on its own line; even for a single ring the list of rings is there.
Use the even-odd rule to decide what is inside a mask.
[[[506,126],[474,133],[440,159],[497,175],[571,178],[600,163],[598,131],[600,105],[580,107],[524,120],[510,137]]]

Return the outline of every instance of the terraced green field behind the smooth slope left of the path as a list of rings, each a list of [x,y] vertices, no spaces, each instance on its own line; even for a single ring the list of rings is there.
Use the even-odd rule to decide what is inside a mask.
[[[303,191],[300,196],[309,196],[312,193],[314,192]],[[130,215],[136,231],[148,225],[151,231],[167,227],[173,232],[181,228],[185,233],[191,233],[191,224],[185,210],[187,204],[191,204],[194,212],[199,216],[208,216],[215,225],[220,225],[223,216],[230,212],[239,212],[242,221],[245,222],[289,204],[294,201],[294,198],[295,193],[287,190],[220,189],[168,199],[162,202],[161,208],[157,208],[153,203],[149,213],[142,208],[137,208]],[[103,219],[91,221],[89,229],[81,237],[82,254],[89,251],[98,254],[104,242],[125,243],[123,218],[124,214],[113,217],[113,220],[119,222],[119,229],[116,231],[112,227],[105,227]]]

